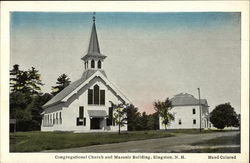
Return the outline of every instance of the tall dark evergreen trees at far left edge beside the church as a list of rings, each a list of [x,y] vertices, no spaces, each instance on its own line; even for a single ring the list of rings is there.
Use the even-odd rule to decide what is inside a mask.
[[[41,93],[41,75],[34,67],[24,71],[16,64],[10,76],[10,118],[16,119],[17,131],[39,130],[41,106],[51,98]]]

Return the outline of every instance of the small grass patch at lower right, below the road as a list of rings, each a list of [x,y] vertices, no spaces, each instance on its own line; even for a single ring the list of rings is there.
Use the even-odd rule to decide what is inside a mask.
[[[240,134],[237,134],[235,136],[223,136],[218,137],[202,142],[196,142],[191,145],[203,145],[203,146],[211,146],[211,145],[240,145]]]

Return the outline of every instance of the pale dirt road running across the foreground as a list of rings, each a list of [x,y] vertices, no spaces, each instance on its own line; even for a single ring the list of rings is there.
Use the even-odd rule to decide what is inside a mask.
[[[176,137],[167,137],[159,139],[148,139],[129,141],[115,144],[93,145],[81,148],[71,148],[59,151],[46,151],[46,152],[60,152],[60,153],[128,153],[128,152],[172,152],[178,150],[190,149],[191,143],[200,142],[208,139],[213,139],[221,136],[233,136],[238,134],[239,131],[232,132],[218,132],[208,134],[187,134]]]

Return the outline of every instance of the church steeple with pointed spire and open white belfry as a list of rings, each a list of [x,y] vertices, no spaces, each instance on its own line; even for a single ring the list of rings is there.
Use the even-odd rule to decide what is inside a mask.
[[[100,47],[96,32],[96,25],[95,25],[95,13],[94,13],[88,52],[81,59],[84,61],[85,70],[87,70],[87,69],[102,69],[102,62],[105,58],[106,56],[101,54],[100,52]]]

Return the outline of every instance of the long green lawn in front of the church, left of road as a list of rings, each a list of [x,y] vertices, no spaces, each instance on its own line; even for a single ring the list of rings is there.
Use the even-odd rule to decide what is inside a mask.
[[[10,134],[10,152],[39,152],[174,136],[168,132],[136,131],[123,133],[16,132]]]

